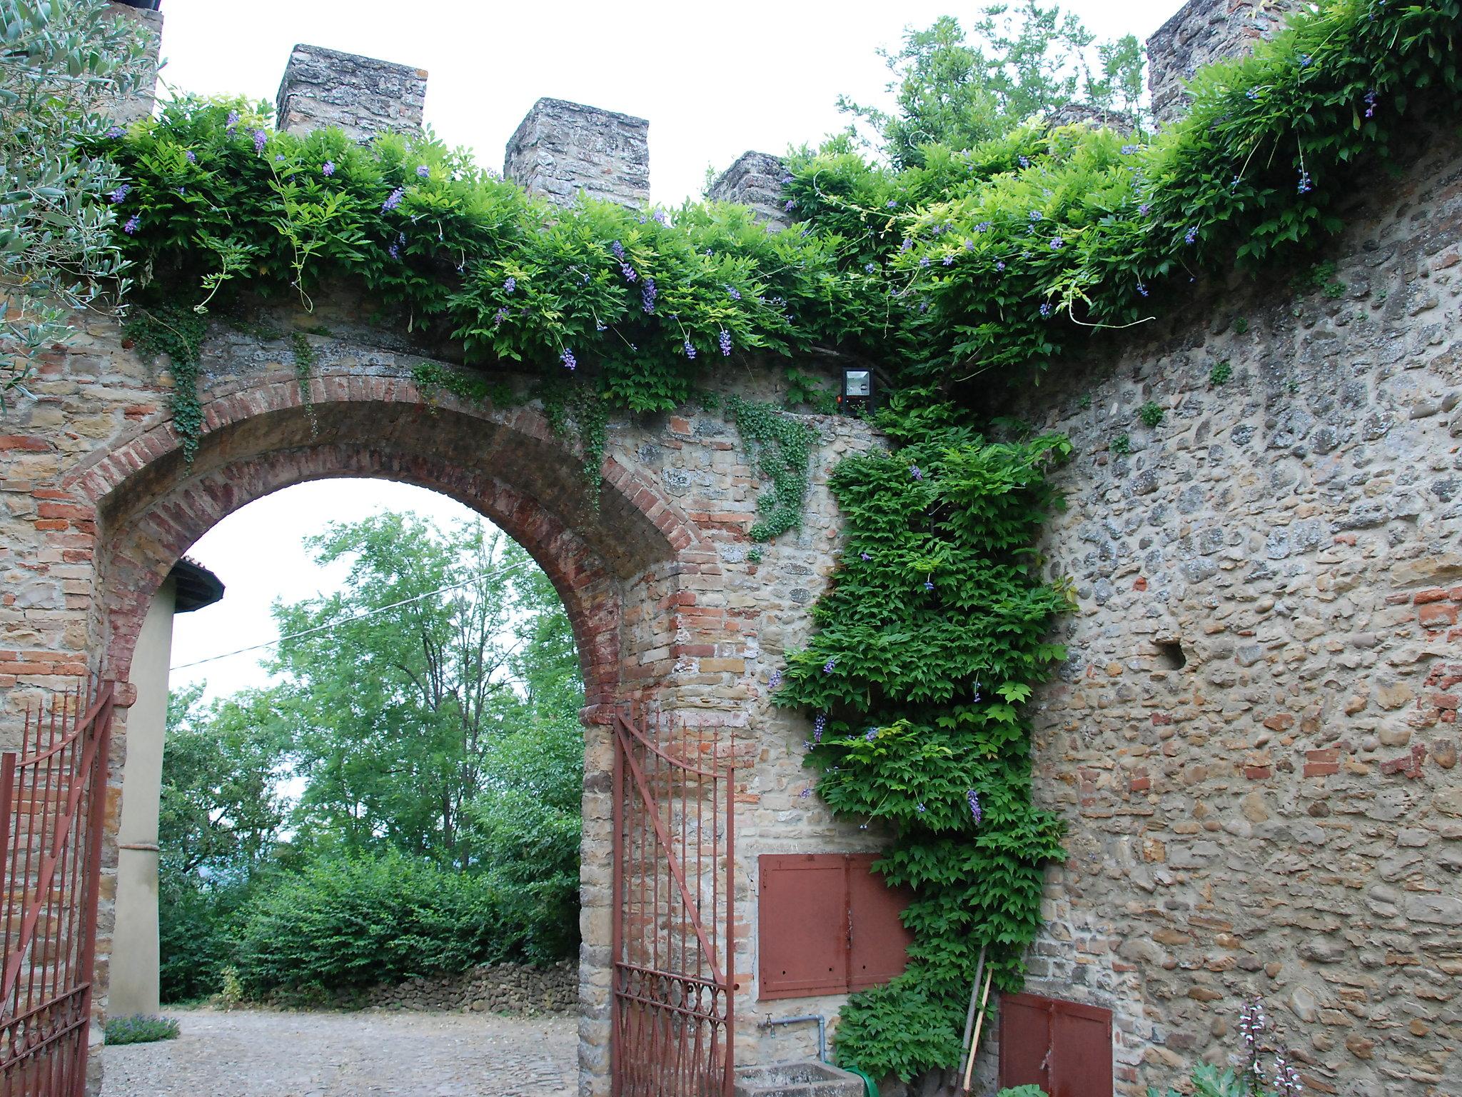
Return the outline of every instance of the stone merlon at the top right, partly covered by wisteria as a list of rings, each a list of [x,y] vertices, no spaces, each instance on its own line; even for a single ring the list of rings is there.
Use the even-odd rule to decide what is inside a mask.
[[[1211,61],[1238,57],[1272,38],[1301,0],[1189,0],[1148,39],[1152,117],[1173,121],[1187,111],[1183,82]]]

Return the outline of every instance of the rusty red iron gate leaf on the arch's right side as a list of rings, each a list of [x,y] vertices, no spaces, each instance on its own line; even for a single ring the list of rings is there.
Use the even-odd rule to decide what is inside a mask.
[[[614,721],[614,1097],[730,1097],[735,769]]]

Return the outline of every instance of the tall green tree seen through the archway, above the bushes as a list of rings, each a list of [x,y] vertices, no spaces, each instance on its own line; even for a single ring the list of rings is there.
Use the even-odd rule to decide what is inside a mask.
[[[541,705],[582,704],[563,607],[528,554],[478,522],[443,532],[380,515],[308,544],[349,573],[338,594],[275,610],[306,781],[298,840],[468,869],[466,815],[490,787],[494,740]]]

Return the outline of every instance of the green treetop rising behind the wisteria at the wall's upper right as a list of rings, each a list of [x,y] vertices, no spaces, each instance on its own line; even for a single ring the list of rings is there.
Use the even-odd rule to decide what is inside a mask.
[[[1069,102],[1136,114],[1142,48],[1133,35],[1098,42],[1076,15],[1037,0],[990,4],[969,34],[952,16],[908,29],[898,53],[880,51],[893,79],[893,113],[839,97],[867,123],[896,167],[924,162],[923,148],[969,149]]]

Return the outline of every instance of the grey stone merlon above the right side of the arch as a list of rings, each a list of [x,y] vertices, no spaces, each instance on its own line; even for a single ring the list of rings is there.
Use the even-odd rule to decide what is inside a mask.
[[[621,206],[649,202],[649,123],[564,99],[538,99],[507,142],[503,176],[554,205],[579,192]]]

